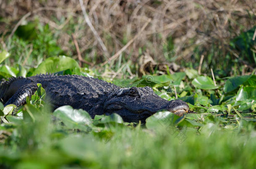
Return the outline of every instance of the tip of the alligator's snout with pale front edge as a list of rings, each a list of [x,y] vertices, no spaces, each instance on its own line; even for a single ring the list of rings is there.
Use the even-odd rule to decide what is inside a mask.
[[[166,110],[173,112],[178,116],[182,116],[187,113],[189,110],[189,106],[185,101],[182,100],[172,100],[169,101]]]

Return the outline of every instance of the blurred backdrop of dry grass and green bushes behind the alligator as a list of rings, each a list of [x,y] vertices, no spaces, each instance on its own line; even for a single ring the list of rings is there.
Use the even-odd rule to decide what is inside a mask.
[[[248,74],[255,67],[255,3],[250,0],[84,0],[84,7],[107,53],[86,24],[78,1],[2,0],[1,48],[11,54],[5,62],[35,67],[53,55],[77,58],[73,34],[81,56],[99,65],[138,35],[119,61],[110,62],[112,70],[131,61],[131,73],[136,74],[145,54],[157,63],[194,69],[204,55],[201,72],[213,68],[223,76]]]

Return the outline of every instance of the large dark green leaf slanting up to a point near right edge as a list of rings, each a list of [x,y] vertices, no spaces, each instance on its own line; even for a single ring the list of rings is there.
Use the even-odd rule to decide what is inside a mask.
[[[224,85],[224,88],[223,88],[224,92],[228,93],[230,91],[235,90],[241,84],[245,83],[249,78],[251,78],[251,75],[229,78]]]

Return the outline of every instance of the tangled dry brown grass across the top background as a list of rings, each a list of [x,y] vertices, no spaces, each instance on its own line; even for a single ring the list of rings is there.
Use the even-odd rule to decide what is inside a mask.
[[[84,6],[109,57],[123,48],[151,19],[145,30],[124,50],[125,57],[131,55],[133,62],[138,61],[139,48],[147,49],[155,60],[164,62],[162,46],[170,36],[175,44],[175,51],[170,52],[175,53],[176,61],[198,63],[199,60],[191,58],[194,48],[199,46],[203,49],[201,54],[207,55],[212,44],[219,46],[224,56],[230,38],[256,25],[256,2],[252,0],[84,0]],[[71,33],[78,41],[82,57],[91,49],[87,60],[92,60],[95,54],[97,61],[92,62],[107,60],[85,22],[78,0],[0,0],[0,15],[7,18],[0,31],[12,30],[22,16],[42,7],[26,20],[37,17],[40,22],[48,23],[52,31],[60,31],[59,45],[73,56],[76,49],[71,43]],[[55,18],[64,20],[59,24]],[[222,57],[218,53],[214,56]]]

